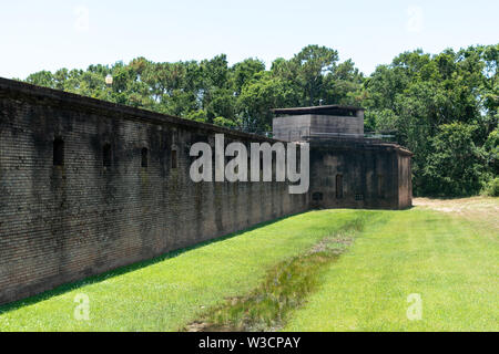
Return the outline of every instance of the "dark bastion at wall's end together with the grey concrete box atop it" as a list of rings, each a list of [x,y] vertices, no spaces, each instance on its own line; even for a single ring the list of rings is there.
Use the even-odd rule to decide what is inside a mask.
[[[364,138],[364,110],[328,105],[274,110],[276,138],[310,144],[310,207],[411,206],[411,153]]]

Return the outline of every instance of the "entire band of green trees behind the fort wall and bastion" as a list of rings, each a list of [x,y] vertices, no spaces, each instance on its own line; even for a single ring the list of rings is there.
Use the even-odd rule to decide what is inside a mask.
[[[273,107],[363,105],[368,131],[393,134],[415,153],[415,194],[454,196],[477,194],[498,175],[498,59],[499,44],[417,50],[365,77],[337,51],[308,45],[268,70],[257,59],[231,66],[224,54],[176,63],[138,58],[42,71],[27,82],[261,134],[271,131]]]

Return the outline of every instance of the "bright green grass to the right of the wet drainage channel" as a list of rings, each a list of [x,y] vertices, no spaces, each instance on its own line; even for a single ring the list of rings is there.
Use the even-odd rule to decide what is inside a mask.
[[[323,275],[291,331],[498,331],[498,230],[424,209],[387,212]],[[422,298],[409,321],[407,296]]]

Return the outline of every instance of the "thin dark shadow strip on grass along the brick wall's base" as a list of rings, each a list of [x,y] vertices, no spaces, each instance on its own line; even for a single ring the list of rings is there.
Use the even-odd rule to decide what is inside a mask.
[[[47,291],[44,291],[44,292],[42,292],[40,294],[37,294],[37,295],[33,295],[33,296],[30,296],[30,298],[27,298],[27,299],[23,299],[23,300],[18,300],[18,301],[14,301],[14,302],[11,302],[11,303],[7,303],[7,304],[3,304],[3,305],[0,305],[0,315],[3,314],[3,313],[7,313],[7,312],[10,312],[10,311],[13,311],[13,310],[27,306],[27,305],[31,305],[31,304],[34,304],[34,303],[48,300],[48,299],[53,298],[53,296],[58,296],[60,294],[63,294],[65,292],[79,289],[79,288],[84,287],[84,285],[94,284],[94,283],[98,283],[98,282],[101,282],[101,281],[104,281],[104,280],[108,280],[108,279],[111,279],[111,278],[114,278],[114,277],[118,277],[118,275],[126,274],[129,272],[142,269],[144,267],[149,267],[149,266],[162,262],[162,261],[171,259],[171,258],[175,258],[175,257],[177,257],[177,256],[180,256],[182,253],[195,250],[197,248],[201,248],[201,247],[204,247],[204,246],[207,246],[207,244],[211,244],[211,243],[222,242],[222,241],[225,241],[227,239],[232,239],[232,238],[237,237],[240,235],[243,235],[245,232],[248,232],[248,231],[252,231],[252,230],[256,230],[256,229],[259,229],[259,228],[273,225],[275,222],[283,221],[285,219],[288,219],[288,218],[292,218],[292,217],[295,217],[295,216],[298,216],[298,215],[302,215],[302,214],[305,214],[305,212],[307,212],[307,211],[298,212],[298,214],[294,214],[294,215],[288,215],[288,216],[282,217],[282,218],[264,221],[264,222],[254,225],[254,226],[252,226],[252,227],[249,227],[247,229],[241,230],[241,231],[232,232],[232,233],[228,233],[228,235],[225,235],[225,236],[221,236],[221,237],[215,237],[213,239],[210,239],[210,240],[206,240],[206,241],[203,241],[203,242],[200,242],[200,243],[186,247],[186,248],[182,248],[182,249],[170,251],[167,253],[164,253],[162,256],[159,256],[159,257],[155,257],[155,258],[152,258],[152,259],[149,259],[149,260],[140,261],[140,262],[136,262],[136,263],[133,263],[133,264],[130,264],[130,266],[123,266],[123,267],[120,267],[120,268],[116,268],[116,269],[113,269],[113,270],[110,270],[110,271],[106,271],[106,272],[103,272],[103,273],[100,273],[100,274],[96,274],[96,275],[91,275],[89,278],[84,278],[84,279],[75,281],[75,282],[71,282],[71,283],[65,283],[65,284],[59,285],[59,287],[57,287],[57,288],[54,288],[52,290],[47,290]]]

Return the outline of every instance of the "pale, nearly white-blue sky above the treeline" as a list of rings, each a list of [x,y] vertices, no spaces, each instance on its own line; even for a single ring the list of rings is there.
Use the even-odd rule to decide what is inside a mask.
[[[0,76],[60,67],[256,56],[267,66],[307,44],[366,74],[400,52],[495,44],[499,1],[2,1]]]

